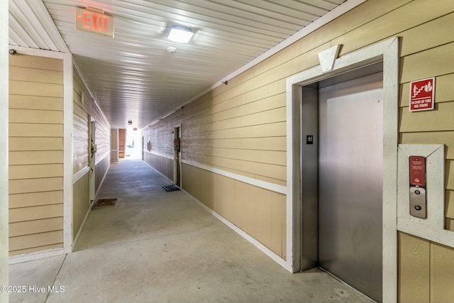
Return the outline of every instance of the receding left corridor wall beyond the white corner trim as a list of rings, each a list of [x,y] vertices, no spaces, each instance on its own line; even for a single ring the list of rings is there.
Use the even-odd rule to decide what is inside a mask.
[[[106,175],[110,165],[110,137],[111,130],[109,122],[106,121],[101,111],[96,106],[94,100],[89,94],[82,78],[74,68],[74,91],[73,91],[73,174],[77,175],[89,166],[90,157],[90,140],[89,140],[89,122],[90,117],[96,121],[95,141],[96,141],[96,170],[95,170],[95,192],[101,186],[101,182]],[[84,101],[82,102],[82,94]],[[79,229],[82,227],[87,211],[89,211],[89,175],[85,173],[79,180],[73,184],[72,194],[72,236],[75,238]]]

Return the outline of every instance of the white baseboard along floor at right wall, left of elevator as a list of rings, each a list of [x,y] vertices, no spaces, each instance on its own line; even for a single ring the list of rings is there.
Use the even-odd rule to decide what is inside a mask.
[[[233,231],[235,231],[236,233],[238,233],[238,235],[242,236],[243,238],[245,238],[248,242],[252,243],[255,247],[257,247],[258,249],[262,250],[263,253],[265,253],[265,255],[267,255],[268,257],[272,258],[272,260],[274,260],[276,263],[278,263],[279,265],[281,265],[283,268],[285,268],[286,270],[288,270],[289,272],[292,272],[292,266],[288,266],[288,263],[286,260],[284,260],[283,258],[281,258],[279,255],[277,255],[274,251],[270,250],[270,248],[267,248],[266,246],[264,246],[262,243],[260,243],[257,239],[253,238],[252,236],[250,236],[248,233],[245,233],[245,231],[243,231],[241,228],[239,228],[238,226],[236,226],[235,224],[232,224],[230,221],[228,221],[227,219],[225,219],[223,216],[221,216],[220,214],[216,213],[216,211],[214,211],[213,209],[210,209],[208,206],[206,206],[205,204],[203,204],[202,202],[200,202],[198,199],[196,199],[195,197],[192,197],[191,194],[189,194],[188,192],[186,192],[184,189],[181,189],[182,192],[184,192],[184,194],[186,194],[188,197],[190,197],[191,199],[193,199],[197,204],[199,204],[200,206],[202,206],[204,209],[206,209],[206,211],[208,211],[210,214],[212,214],[213,216],[215,216],[218,220],[220,220],[223,224],[226,224],[226,226],[228,226],[229,228],[231,228]]]

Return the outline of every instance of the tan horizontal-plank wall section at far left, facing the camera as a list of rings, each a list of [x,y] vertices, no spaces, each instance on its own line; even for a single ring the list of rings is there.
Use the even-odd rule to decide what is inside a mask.
[[[9,56],[10,255],[63,247],[63,60]]]

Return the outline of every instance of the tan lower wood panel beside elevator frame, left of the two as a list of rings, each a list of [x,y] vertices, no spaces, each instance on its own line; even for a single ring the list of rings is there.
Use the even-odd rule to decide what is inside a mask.
[[[399,232],[399,302],[429,302],[430,244]]]

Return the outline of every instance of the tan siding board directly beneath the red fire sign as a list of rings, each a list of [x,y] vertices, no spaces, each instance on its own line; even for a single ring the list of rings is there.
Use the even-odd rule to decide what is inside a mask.
[[[454,130],[454,102],[435,105],[434,111],[410,112],[408,108],[399,109],[399,133]]]

